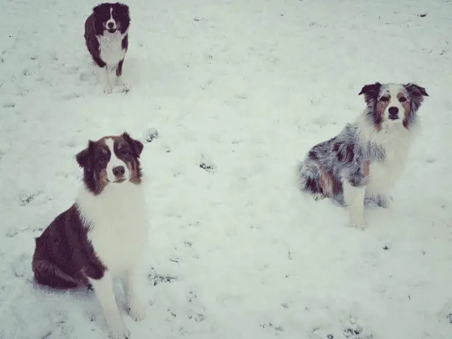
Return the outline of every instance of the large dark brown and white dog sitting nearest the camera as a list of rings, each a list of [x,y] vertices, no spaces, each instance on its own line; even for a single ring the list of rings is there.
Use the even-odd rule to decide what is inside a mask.
[[[143,319],[140,262],[148,214],[139,157],[143,143],[124,132],[89,141],[76,155],[83,182],[76,202],[36,239],[32,270],[37,283],[56,288],[93,287],[112,338],[128,338],[113,292],[123,278],[129,314]]]

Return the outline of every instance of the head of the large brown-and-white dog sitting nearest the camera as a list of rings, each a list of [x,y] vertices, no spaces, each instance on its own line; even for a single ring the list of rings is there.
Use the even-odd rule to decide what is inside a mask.
[[[76,155],[78,165],[83,168],[86,189],[97,195],[107,185],[141,184],[142,150],[143,143],[126,132],[88,141],[88,147]]]

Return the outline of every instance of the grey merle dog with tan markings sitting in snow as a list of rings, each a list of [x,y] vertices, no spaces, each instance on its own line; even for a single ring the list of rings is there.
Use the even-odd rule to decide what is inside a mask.
[[[367,107],[338,136],[315,145],[298,167],[302,191],[347,206],[350,224],[364,228],[364,198],[386,208],[416,134],[425,88],[415,83],[365,85]]]

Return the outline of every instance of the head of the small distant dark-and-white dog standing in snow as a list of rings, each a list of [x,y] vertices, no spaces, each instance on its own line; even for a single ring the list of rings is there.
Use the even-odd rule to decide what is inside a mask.
[[[129,6],[119,2],[112,4],[105,2],[93,8],[94,27],[96,35],[105,32],[124,34],[130,25]]]

